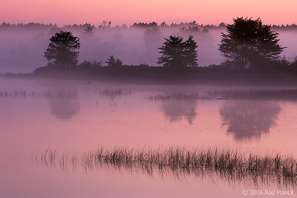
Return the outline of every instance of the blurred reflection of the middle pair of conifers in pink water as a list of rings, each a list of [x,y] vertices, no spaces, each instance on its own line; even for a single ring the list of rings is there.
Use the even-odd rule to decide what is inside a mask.
[[[192,124],[197,115],[195,107],[196,100],[194,99],[173,99],[164,100],[162,110],[170,122],[179,122],[186,118],[189,124]]]

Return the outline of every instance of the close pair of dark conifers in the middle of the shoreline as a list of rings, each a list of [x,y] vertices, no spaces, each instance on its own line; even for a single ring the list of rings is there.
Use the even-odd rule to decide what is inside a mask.
[[[158,64],[165,67],[180,68],[185,66],[198,66],[197,64],[197,43],[192,35],[184,42],[182,37],[169,36],[164,38],[165,42],[158,48],[162,56],[158,58]]]

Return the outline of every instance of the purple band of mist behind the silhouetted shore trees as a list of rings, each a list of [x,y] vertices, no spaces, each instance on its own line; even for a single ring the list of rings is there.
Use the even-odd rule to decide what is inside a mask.
[[[29,26],[29,25],[27,25]],[[91,25],[81,27],[6,27],[0,28],[0,72],[28,73],[47,64],[44,51],[49,45],[49,38],[61,30],[70,31],[80,38],[79,62],[83,60],[102,61],[103,65],[110,55],[119,58],[123,64],[160,66],[156,64],[160,56],[159,47],[164,42],[163,38],[169,35],[182,36],[184,41],[189,35],[194,36],[198,44],[198,65],[208,66],[219,64],[224,58],[220,55],[218,45],[221,40],[221,32],[224,27],[206,27],[209,31],[203,32],[202,26],[197,26],[198,31],[189,31],[191,24],[179,24],[176,26],[148,26],[148,27],[116,27],[109,29],[93,28],[87,31]],[[192,26],[193,27],[193,26]],[[157,28],[157,31],[153,31]],[[184,28],[184,30],[183,30]],[[151,32],[149,32],[151,31]],[[276,30],[278,32],[278,30]],[[145,32],[148,34],[145,36]],[[297,31],[279,31],[280,45],[287,47],[281,55],[292,58],[296,55]]]

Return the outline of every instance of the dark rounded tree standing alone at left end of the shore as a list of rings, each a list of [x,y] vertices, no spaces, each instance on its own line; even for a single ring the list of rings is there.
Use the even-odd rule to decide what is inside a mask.
[[[56,33],[49,39],[48,49],[45,51],[45,57],[55,66],[76,66],[80,48],[78,37],[74,37],[71,32]]]

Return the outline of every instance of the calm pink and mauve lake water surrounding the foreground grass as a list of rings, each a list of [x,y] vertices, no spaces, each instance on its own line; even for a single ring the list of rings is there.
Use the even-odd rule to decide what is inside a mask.
[[[295,87],[84,83],[0,78],[0,198],[295,197],[243,195],[296,190],[276,181],[61,166],[34,157],[47,148],[71,155],[99,146],[217,146],[296,158],[297,97],[282,92]]]

